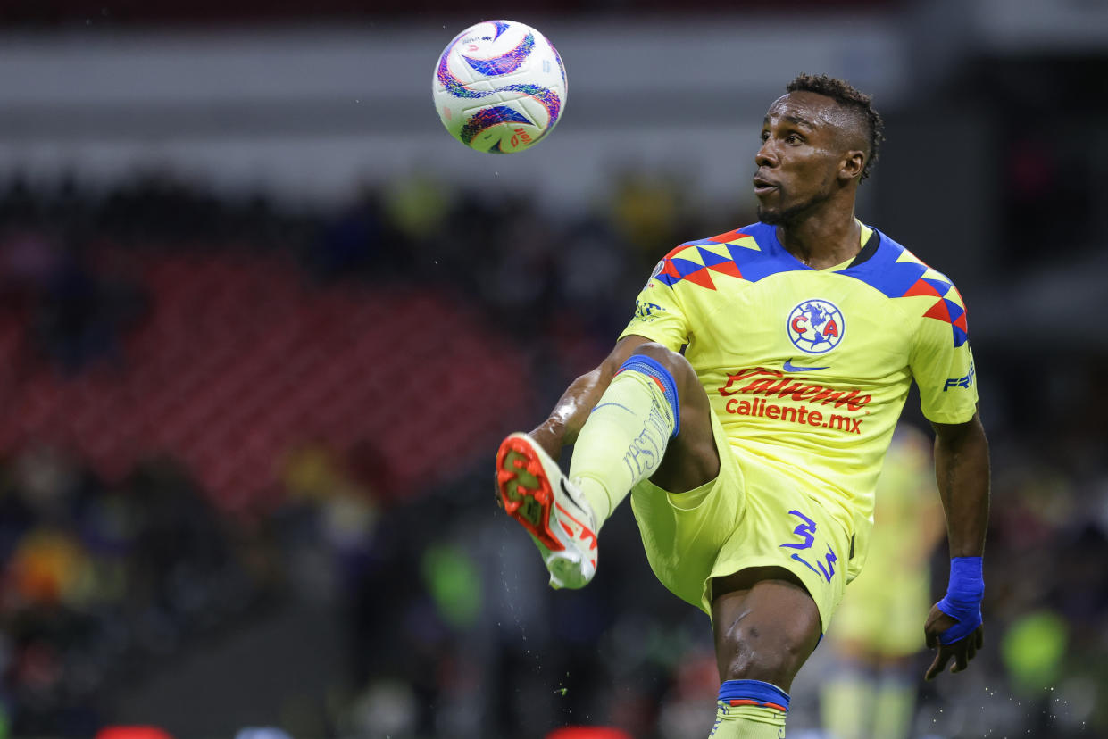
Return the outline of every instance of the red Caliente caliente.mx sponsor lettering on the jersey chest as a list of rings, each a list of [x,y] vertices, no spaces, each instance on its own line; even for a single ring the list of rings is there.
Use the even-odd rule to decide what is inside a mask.
[[[789,377],[781,370],[766,367],[728,374],[719,394],[728,399],[724,409],[735,415],[757,415],[855,434],[862,433],[864,419],[859,414],[868,414],[865,407],[873,400],[873,396],[863,394],[858,388],[808,382],[804,378]]]

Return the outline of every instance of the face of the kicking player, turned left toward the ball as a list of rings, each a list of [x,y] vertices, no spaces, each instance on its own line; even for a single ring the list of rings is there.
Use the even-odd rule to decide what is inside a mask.
[[[760,220],[802,219],[834,194],[843,161],[843,122],[834,100],[813,92],[791,92],[770,105],[755,156]]]

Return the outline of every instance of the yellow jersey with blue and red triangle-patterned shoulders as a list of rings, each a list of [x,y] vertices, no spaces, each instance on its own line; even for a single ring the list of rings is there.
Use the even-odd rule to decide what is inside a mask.
[[[875,229],[863,226],[863,243],[829,269],[798,260],[761,223],[681,244],[620,336],[684,348],[742,463],[802,490],[850,534],[848,578],[864,562],[912,381],[931,421],[968,421],[977,403],[954,284]]]

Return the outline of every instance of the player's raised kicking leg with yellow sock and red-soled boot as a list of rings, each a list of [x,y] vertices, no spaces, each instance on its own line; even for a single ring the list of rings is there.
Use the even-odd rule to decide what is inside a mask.
[[[510,435],[496,454],[504,510],[531,534],[553,587],[592,579],[596,534],[636,483],[656,475],[681,492],[719,469],[711,409],[685,358],[649,342],[619,349],[603,394],[579,413],[568,476],[531,434]]]

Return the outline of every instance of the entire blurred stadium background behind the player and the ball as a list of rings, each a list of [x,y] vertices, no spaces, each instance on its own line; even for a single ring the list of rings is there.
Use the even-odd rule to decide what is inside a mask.
[[[570,75],[515,157],[430,104],[443,45],[497,17]],[[555,595],[491,456],[660,255],[752,220],[760,119],[801,71],[874,93],[860,215],[970,306],[987,648],[921,685],[915,736],[1108,736],[1104,3],[16,0],[0,23],[0,736],[704,736],[707,619],[627,512],[595,584]],[[790,737],[818,736],[824,661]]]

